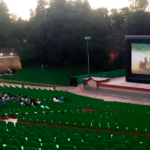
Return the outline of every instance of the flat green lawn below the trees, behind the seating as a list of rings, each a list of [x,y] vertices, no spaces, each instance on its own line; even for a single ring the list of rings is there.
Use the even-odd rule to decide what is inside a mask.
[[[14,83],[17,81],[19,83],[30,82],[39,84],[68,86],[70,83],[68,71],[71,72],[72,76],[87,74],[86,69],[49,68],[42,70],[38,67],[31,67],[17,70],[17,75],[2,76],[0,77],[0,80],[4,80],[7,82],[9,82],[8,80],[11,80]]]

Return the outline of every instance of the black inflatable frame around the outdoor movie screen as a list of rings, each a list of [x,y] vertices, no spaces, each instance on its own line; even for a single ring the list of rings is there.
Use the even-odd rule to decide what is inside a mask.
[[[132,74],[132,43],[147,43],[150,44],[150,36],[147,35],[126,35],[125,36],[125,69],[126,69],[126,81],[137,82],[137,83],[150,83],[150,75],[145,74]]]

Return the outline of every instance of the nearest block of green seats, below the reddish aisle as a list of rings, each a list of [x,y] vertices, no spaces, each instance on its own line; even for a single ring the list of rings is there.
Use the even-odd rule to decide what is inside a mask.
[[[122,135],[109,130],[90,130],[0,121],[1,150],[149,150],[150,139],[144,133]]]

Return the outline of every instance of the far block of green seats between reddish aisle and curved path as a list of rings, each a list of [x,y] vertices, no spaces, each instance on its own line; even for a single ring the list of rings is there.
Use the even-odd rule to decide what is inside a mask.
[[[42,102],[37,107],[19,106],[6,102],[0,110],[2,117],[18,117],[18,121],[48,125],[75,126],[96,129],[150,133],[150,106],[121,102],[109,102],[75,95],[64,91],[52,91],[19,87],[0,87],[1,92],[32,96]],[[52,96],[65,95],[67,102],[54,103]],[[84,112],[84,109],[95,110]]]

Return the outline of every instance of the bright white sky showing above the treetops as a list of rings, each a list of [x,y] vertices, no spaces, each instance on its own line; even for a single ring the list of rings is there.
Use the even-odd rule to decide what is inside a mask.
[[[28,20],[30,17],[30,8],[35,10],[37,5],[37,0],[3,0],[10,13],[16,14],[18,17]],[[122,8],[129,6],[128,0],[89,0],[92,8],[106,7],[111,8]]]

